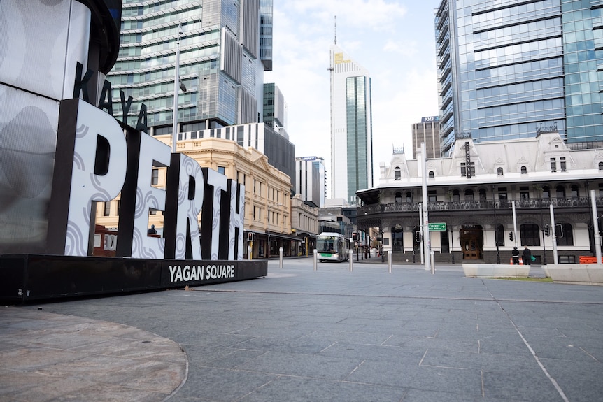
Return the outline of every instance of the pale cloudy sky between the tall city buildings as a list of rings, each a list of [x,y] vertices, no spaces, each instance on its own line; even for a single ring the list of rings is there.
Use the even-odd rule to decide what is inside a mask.
[[[274,0],[274,82],[288,107],[296,157],[322,157],[330,181],[329,48],[367,69],[372,83],[374,185],[393,147],[411,159],[412,124],[437,116],[434,9],[440,0]],[[336,29],[335,29],[336,22]],[[327,197],[330,189],[327,185]]]

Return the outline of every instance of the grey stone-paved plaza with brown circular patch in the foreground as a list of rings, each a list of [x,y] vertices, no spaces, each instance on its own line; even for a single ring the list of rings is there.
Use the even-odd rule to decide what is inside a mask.
[[[0,313],[0,401],[603,401],[603,287],[269,261]]]

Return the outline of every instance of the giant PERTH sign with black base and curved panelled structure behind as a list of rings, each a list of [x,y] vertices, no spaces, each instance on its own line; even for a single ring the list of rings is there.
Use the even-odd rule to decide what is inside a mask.
[[[241,261],[243,185],[148,136],[144,105],[125,124],[121,91],[113,117],[114,18],[103,0],[0,2],[0,299],[267,275],[266,261]],[[157,167],[165,189],[150,185]],[[115,257],[94,256],[96,203],[118,195]],[[164,213],[163,237],[147,235],[150,210]]]

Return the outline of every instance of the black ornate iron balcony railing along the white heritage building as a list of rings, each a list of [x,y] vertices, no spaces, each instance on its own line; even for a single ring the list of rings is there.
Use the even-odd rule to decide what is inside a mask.
[[[506,210],[511,209],[511,199],[477,200],[477,201],[430,201],[427,203],[429,211],[454,211],[454,210]],[[590,207],[590,197],[562,197],[549,199],[516,199],[515,208],[523,210],[538,210],[549,208]],[[603,197],[595,197],[597,207],[603,207]],[[370,206],[362,206],[358,215],[395,212],[413,212],[419,210],[418,202],[381,203]]]

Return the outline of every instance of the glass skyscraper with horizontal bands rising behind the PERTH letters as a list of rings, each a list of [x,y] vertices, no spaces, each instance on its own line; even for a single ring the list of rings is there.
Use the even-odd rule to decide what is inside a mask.
[[[149,134],[171,134],[178,25],[180,80],[186,87],[178,94],[179,131],[260,121],[263,72],[271,69],[271,4],[124,0],[120,54],[108,79],[134,99],[128,124],[136,127],[145,104]],[[265,22],[267,29],[262,28]],[[263,47],[265,61],[260,30],[262,41],[269,44]],[[113,105],[119,115],[120,99],[113,99]]]

